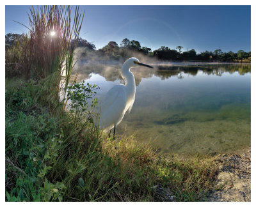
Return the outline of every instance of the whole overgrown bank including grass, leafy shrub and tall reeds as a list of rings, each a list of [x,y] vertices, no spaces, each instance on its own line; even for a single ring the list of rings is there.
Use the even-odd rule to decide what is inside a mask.
[[[6,50],[6,201],[204,201],[211,157],[164,157],[134,136],[113,141],[93,122],[93,86],[68,86],[83,20],[76,9],[72,27],[70,12],[31,8],[31,33]]]

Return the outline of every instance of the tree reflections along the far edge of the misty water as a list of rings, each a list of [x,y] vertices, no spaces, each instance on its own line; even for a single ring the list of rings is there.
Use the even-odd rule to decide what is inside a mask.
[[[121,76],[121,65],[87,65],[79,63],[74,68],[74,74],[79,72],[77,82],[90,78],[91,73],[97,73],[104,77],[106,81],[115,81],[119,79],[124,83]],[[160,65],[154,66],[154,69],[148,69],[145,67],[132,68],[132,73],[135,77],[136,86],[141,82],[142,78],[149,78],[152,75],[160,77],[162,80],[169,79],[170,77],[177,77],[182,79],[184,74],[197,75],[198,71],[202,71],[207,75],[221,76],[223,73],[228,72],[230,74],[238,72],[240,75],[251,72],[250,64],[227,64],[227,65],[193,65],[193,66],[180,66],[180,65]]]

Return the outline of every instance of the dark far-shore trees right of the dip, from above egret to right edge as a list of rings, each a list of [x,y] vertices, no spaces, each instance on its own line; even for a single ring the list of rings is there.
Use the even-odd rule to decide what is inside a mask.
[[[141,47],[140,42],[136,40],[130,41],[125,38],[120,43],[120,46],[116,42],[111,41],[108,45],[99,49],[99,52],[107,56],[112,56],[113,59],[116,56],[125,57],[127,50],[141,52],[146,56],[157,57],[157,59],[164,61],[250,62],[251,59],[251,52],[245,52],[244,50],[223,52],[221,49],[216,49],[214,52],[205,50],[204,52],[196,53],[195,49],[188,51],[182,51],[182,49],[182,46],[177,46],[175,49],[161,46],[159,49],[152,51],[149,47]]]

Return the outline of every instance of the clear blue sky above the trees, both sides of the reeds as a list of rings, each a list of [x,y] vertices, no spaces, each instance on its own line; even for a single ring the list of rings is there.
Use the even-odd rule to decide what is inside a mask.
[[[251,6],[80,6],[80,36],[100,49],[110,41],[137,40],[196,52],[251,50]],[[29,6],[5,6],[5,33],[27,33]]]

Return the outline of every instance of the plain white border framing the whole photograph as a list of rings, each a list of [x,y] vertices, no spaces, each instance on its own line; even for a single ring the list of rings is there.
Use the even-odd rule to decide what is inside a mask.
[[[113,1],[113,0],[109,0],[109,1],[49,1],[46,0],[44,2],[35,2],[35,1],[10,1],[10,2],[6,2],[7,5],[29,5],[29,4],[77,4],[77,5],[252,5],[251,6],[251,51],[252,51],[252,59],[253,58],[253,54],[254,54],[254,50],[255,50],[255,40],[254,38],[256,37],[255,34],[255,1],[238,1],[238,0],[233,0],[233,1],[220,1],[220,0],[216,0],[216,1],[167,1],[167,0],[148,0],[148,1],[135,1],[135,0],[130,0],[130,1]],[[3,25],[5,25],[4,23],[5,20],[5,6],[1,5],[1,28],[5,28],[3,27]],[[3,29],[4,30],[4,29]],[[3,34],[3,31],[2,31]],[[1,41],[1,57],[2,57],[2,70],[4,70],[4,42],[3,39]],[[255,72],[253,70],[256,70],[255,68],[255,64],[254,61],[252,61],[252,202],[251,203],[19,203],[19,205],[21,206],[42,206],[42,205],[61,205],[61,206],[69,206],[70,204],[72,205],[76,205],[76,206],[81,206],[81,205],[90,205],[90,206],[99,206],[99,205],[107,205],[107,206],[153,206],[153,205],[161,205],[161,206],[180,206],[180,205],[186,205],[186,206],[255,206],[255,177],[253,175],[253,173],[255,172],[255,153],[254,153],[254,149],[255,149],[255,139],[256,139],[256,134],[255,134],[255,117],[256,117],[256,112],[255,112]],[[4,76],[2,75],[2,79],[1,79],[1,97],[4,98]],[[1,146],[2,146],[2,156],[1,156],[1,198],[2,198],[2,202],[4,202],[4,195],[5,195],[5,185],[4,185],[4,146],[5,146],[5,142],[4,142],[4,102],[1,102]],[[17,205],[17,203],[5,203],[4,204],[7,206],[12,206],[12,205]]]

